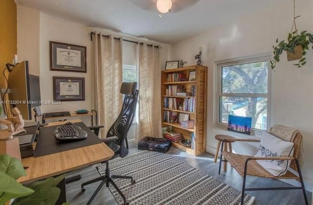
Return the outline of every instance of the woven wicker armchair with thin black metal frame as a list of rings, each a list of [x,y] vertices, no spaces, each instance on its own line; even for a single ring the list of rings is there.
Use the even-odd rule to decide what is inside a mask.
[[[275,125],[281,126],[283,128],[288,129],[290,131],[290,127],[282,126],[282,125]],[[271,127],[269,129],[269,133],[274,134]],[[280,130],[284,132],[284,130]],[[286,132],[285,132],[286,133]],[[277,134],[277,133],[276,133]],[[275,134],[274,134],[275,135]],[[277,136],[277,135],[276,135]],[[278,136],[279,137],[279,136]],[[221,164],[222,162],[228,162],[235,168],[235,170],[243,177],[243,186],[242,186],[242,197],[241,197],[241,205],[244,204],[244,195],[245,191],[258,191],[258,190],[286,190],[286,189],[302,189],[303,196],[306,205],[308,205],[308,198],[306,196],[306,191],[303,183],[303,178],[300,170],[300,165],[298,161],[299,151],[302,149],[302,135],[299,131],[294,131],[291,133],[290,141],[294,143],[294,152],[292,157],[253,157],[253,156],[246,156],[240,155],[236,153],[230,153],[227,151],[223,151],[221,153],[221,160],[220,160],[220,168],[219,174],[221,173]],[[260,142],[259,140],[254,139],[235,139],[233,142]],[[224,142],[222,143],[222,150],[223,150]],[[222,160],[222,155],[224,156],[224,160]],[[287,171],[285,175],[280,177],[275,177],[270,174],[265,168],[263,168],[260,164],[256,162],[256,160],[291,160],[290,167],[298,172],[299,176],[293,174],[291,171]],[[265,177],[271,179],[295,179],[301,183],[300,187],[293,186],[293,187],[261,187],[261,188],[246,188],[246,176],[256,176],[256,177]]]

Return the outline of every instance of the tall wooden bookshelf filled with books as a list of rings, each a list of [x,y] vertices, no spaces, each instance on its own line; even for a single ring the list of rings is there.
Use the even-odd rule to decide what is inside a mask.
[[[181,81],[181,79],[176,79],[177,82],[168,82],[169,75],[171,74],[183,74],[185,79],[188,79],[189,72],[196,71],[195,81]],[[192,155],[200,155],[205,152],[206,147],[206,104],[207,104],[207,67],[201,65],[193,65],[183,68],[164,70],[161,76],[161,108],[162,108],[162,126],[172,126],[173,130],[180,132],[184,139],[191,140],[192,133],[194,134],[194,149],[191,147],[186,147],[181,143],[172,143],[173,146],[189,153]],[[171,79],[173,81],[173,79]],[[172,85],[183,86],[186,93],[192,93],[193,96],[177,96],[169,95],[169,87]],[[195,88],[195,91],[194,91]],[[175,92],[174,92],[175,93]],[[173,94],[173,93],[172,93]],[[168,98],[175,100],[171,103],[172,107],[169,107]],[[180,101],[192,101],[193,111],[191,110],[180,110],[177,107],[173,107],[177,99],[182,99]],[[189,102],[188,101],[188,102]],[[185,108],[185,107],[184,107]],[[170,112],[176,112],[177,118],[179,114],[189,114],[189,119],[195,122],[195,126],[192,129],[184,128],[177,122],[171,122],[168,117]]]

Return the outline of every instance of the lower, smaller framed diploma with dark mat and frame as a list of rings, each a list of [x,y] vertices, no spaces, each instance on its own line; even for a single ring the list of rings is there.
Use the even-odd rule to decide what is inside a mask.
[[[85,101],[85,78],[53,76],[53,100]]]

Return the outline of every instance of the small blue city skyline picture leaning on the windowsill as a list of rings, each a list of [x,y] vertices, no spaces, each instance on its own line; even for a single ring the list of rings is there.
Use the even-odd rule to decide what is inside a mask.
[[[252,118],[249,118],[249,117],[228,115],[227,130],[250,135],[251,134],[251,121],[252,121]]]

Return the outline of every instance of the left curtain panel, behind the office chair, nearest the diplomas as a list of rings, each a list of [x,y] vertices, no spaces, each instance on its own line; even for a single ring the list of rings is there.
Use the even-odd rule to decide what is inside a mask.
[[[99,137],[105,138],[122,107],[122,38],[117,40],[100,32],[95,32],[94,37],[94,107],[98,124],[105,126]]]

